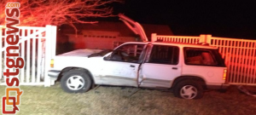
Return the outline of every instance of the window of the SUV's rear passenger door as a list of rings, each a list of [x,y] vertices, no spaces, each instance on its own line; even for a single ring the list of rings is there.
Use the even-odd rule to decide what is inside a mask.
[[[154,45],[148,63],[177,65],[178,55],[178,47]]]

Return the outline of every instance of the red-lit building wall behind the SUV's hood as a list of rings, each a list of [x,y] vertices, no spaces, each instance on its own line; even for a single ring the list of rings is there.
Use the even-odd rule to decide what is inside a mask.
[[[73,49],[114,49],[120,43],[136,41],[135,37],[119,37],[119,32],[84,31],[80,35],[67,34]]]

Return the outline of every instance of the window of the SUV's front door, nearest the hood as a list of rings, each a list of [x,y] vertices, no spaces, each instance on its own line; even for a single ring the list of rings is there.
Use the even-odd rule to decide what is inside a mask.
[[[105,60],[138,63],[139,60],[142,60],[141,55],[143,54],[144,46],[144,44],[125,44],[115,49],[113,54],[109,55]]]

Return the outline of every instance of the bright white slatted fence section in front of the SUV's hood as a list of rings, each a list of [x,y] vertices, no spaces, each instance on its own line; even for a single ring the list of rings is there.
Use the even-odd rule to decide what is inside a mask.
[[[20,52],[20,57],[25,60],[25,66],[20,69],[20,85],[49,86],[52,81],[48,78],[47,71],[49,70],[50,59],[55,56],[56,26],[17,27],[20,30],[20,50],[18,52]],[[5,26],[0,26],[0,56],[2,57],[0,84],[2,85],[6,84],[3,77],[5,68],[2,63],[6,62],[5,49],[8,47],[8,43],[5,41],[5,29]]]

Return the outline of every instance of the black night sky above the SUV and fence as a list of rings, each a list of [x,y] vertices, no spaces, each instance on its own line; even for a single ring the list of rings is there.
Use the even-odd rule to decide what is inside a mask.
[[[175,35],[256,39],[256,1],[205,1],[125,0],[113,9],[139,23],[168,25]]]

